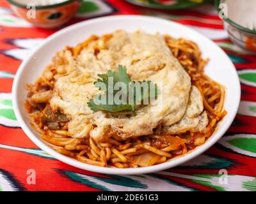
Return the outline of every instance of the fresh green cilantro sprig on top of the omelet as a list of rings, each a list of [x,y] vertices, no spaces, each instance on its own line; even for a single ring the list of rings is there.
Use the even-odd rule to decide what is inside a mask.
[[[93,110],[120,112],[129,110],[135,114],[136,105],[147,105],[150,99],[157,96],[157,85],[150,81],[131,82],[125,66],[119,65],[118,71],[108,71],[98,75],[95,87],[104,94],[97,94],[90,99],[88,106]],[[144,102],[147,103],[144,103]]]

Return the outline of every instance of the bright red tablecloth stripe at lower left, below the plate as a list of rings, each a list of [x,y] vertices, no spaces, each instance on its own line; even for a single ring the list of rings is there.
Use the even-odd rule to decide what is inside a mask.
[[[99,191],[98,189],[67,179],[67,177],[56,171],[56,169],[76,171],[76,168],[70,167],[61,161],[1,148],[0,155],[1,168],[10,171],[28,191]],[[27,183],[29,176],[27,171],[29,169],[36,172],[35,185]],[[88,174],[88,171],[84,171],[84,174]]]

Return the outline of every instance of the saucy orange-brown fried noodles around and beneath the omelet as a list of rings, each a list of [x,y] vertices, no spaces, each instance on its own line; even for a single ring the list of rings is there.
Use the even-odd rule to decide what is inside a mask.
[[[109,38],[111,35],[106,35],[106,40]],[[148,135],[125,141],[108,138],[102,143],[95,142],[92,137],[72,138],[67,128],[68,117],[61,112],[53,113],[49,106],[55,82],[54,75],[63,72],[61,65],[67,63],[57,54],[35,85],[28,85],[29,93],[25,108],[30,113],[32,125],[42,135],[42,139],[60,154],[74,157],[83,163],[111,168],[138,168],[161,164],[173,157],[183,156],[189,150],[205,143],[205,140],[214,133],[218,122],[227,114],[223,110],[225,88],[205,75],[204,67],[209,59],[202,59],[196,43],[183,38],[172,38],[169,35],[164,38],[173,55],[191,77],[192,85],[195,85],[202,95],[204,110],[209,119],[203,133],[187,131],[175,135]],[[90,41],[97,39],[97,36],[92,36],[77,47],[66,49],[75,56]],[[99,48],[95,48],[95,52],[99,52]],[[176,145],[164,143],[161,137],[175,141]]]

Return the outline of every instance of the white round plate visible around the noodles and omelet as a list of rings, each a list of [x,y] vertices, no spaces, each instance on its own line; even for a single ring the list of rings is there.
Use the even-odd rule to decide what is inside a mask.
[[[213,80],[216,80],[216,82],[225,85],[227,95],[225,98],[224,108],[228,113],[225,118],[221,120],[214,135],[212,135],[204,145],[197,147],[185,156],[174,158],[172,161],[158,164],[156,166],[127,169],[106,168],[84,164],[76,159],[59,154],[55,150],[51,149],[51,147],[48,147],[45,142],[40,139],[40,135],[38,135],[38,133],[31,127],[28,120],[28,114],[24,110],[24,100],[27,97],[26,84],[34,83],[35,80],[40,77],[47,64],[51,62],[51,59],[56,52],[62,50],[65,45],[74,46],[77,45],[77,43],[86,40],[86,38],[92,34],[101,35],[111,33],[119,29],[128,32],[141,30],[152,34],[159,32],[161,34],[170,34],[177,38],[187,38],[195,41],[195,43],[199,45],[204,58],[209,57],[211,59],[209,64],[207,64],[205,72]],[[170,20],[163,20],[161,18],[154,17],[123,15],[86,20],[79,24],[71,25],[49,36],[49,38],[47,38],[44,43],[20,65],[13,83],[12,92],[13,107],[17,119],[20,122],[20,126],[29,138],[42,150],[64,163],[76,166],[83,170],[124,175],[150,173],[171,168],[189,161],[189,159],[192,159],[209,149],[209,147],[223,136],[234,120],[239,106],[240,90],[240,83],[236,69],[228,56],[220,47],[202,34],[196,33],[196,31],[193,31],[184,25],[171,22]]]

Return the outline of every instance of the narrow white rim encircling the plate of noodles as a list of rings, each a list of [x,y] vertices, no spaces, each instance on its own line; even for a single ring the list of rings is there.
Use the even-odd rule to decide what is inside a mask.
[[[34,135],[34,133],[32,131],[30,131],[30,129],[26,125],[25,120],[22,119],[21,112],[19,111],[19,101],[17,99],[17,96],[18,96],[17,90],[19,90],[20,75],[22,74],[23,70],[26,68],[26,64],[28,64],[28,62],[31,60],[31,57],[33,57],[33,55],[36,54],[36,52],[38,52],[38,50],[40,50],[47,43],[49,43],[49,41],[51,41],[54,38],[57,38],[58,36],[61,36],[61,34],[67,32],[70,29],[76,29],[76,27],[86,26],[86,24],[93,24],[93,23],[100,22],[102,20],[103,21],[104,20],[116,20],[116,18],[121,18],[118,20],[127,19],[127,18],[133,18],[133,19],[134,18],[141,18],[141,19],[144,18],[144,20],[151,19],[151,20],[156,20],[156,21],[162,21],[166,24],[175,24],[178,27],[182,27],[182,29],[189,30],[189,32],[193,32],[193,33],[197,34],[200,38],[204,38],[204,40],[211,41],[212,46],[214,46],[218,50],[220,50],[220,52],[222,52],[226,56],[227,60],[231,62],[231,64],[233,65],[232,71],[234,71],[236,73],[236,79],[234,79],[234,82],[236,82],[235,86],[237,87],[237,89],[236,89],[237,97],[236,97],[236,99],[234,99],[234,111],[231,113],[229,119],[226,121],[226,123],[223,125],[223,127],[221,129],[218,129],[216,135],[211,137],[211,141],[207,140],[207,142],[205,142],[203,145],[200,145],[198,148],[196,148],[192,152],[189,152],[185,156],[175,158],[172,161],[168,161],[166,163],[157,164],[155,166],[148,166],[148,167],[120,169],[120,168],[108,168],[108,167],[93,166],[91,164],[82,163],[81,161],[72,159],[71,157],[63,156],[62,154],[56,152],[51,147],[46,145],[46,143],[44,143],[42,141],[42,139],[38,138],[36,135]],[[47,38],[45,38],[44,42],[41,45],[39,45],[38,47],[36,47],[35,50],[33,50],[28,55],[28,57],[24,61],[22,61],[22,63],[20,64],[20,66],[17,70],[17,73],[15,75],[14,81],[13,81],[12,97],[13,97],[13,110],[15,112],[17,120],[20,123],[22,130],[40,149],[44,150],[45,152],[50,154],[52,157],[62,161],[63,163],[70,164],[71,166],[75,166],[75,167],[83,169],[83,170],[93,171],[93,172],[97,172],[97,173],[107,173],[107,174],[113,174],[113,175],[135,175],[135,174],[141,174],[141,173],[152,173],[152,172],[156,172],[156,171],[166,170],[168,168],[173,168],[174,166],[178,166],[179,164],[185,163],[186,161],[189,161],[189,160],[193,159],[194,157],[199,156],[200,154],[205,152],[207,149],[212,147],[212,145],[214,145],[214,143],[218,142],[218,140],[220,140],[220,138],[226,133],[227,129],[230,127],[234,118],[236,117],[236,113],[237,113],[240,98],[241,98],[241,85],[239,82],[239,77],[237,75],[236,68],[235,68],[234,64],[232,63],[232,61],[230,60],[230,58],[218,45],[216,45],[216,43],[214,43],[209,38],[205,37],[203,34],[200,34],[197,31],[194,31],[193,29],[186,27],[186,25],[182,25],[177,22],[173,22],[171,20],[166,20],[163,18],[147,17],[147,16],[143,16],[143,15],[114,15],[114,16],[108,16],[108,17],[93,18],[90,20],[79,22],[77,24],[73,24],[68,27],[65,27],[64,29],[61,29],[60,31],[57,31],[54,34],[51,34],[51,36],[48,36]],[[38,136],[40,136],[40,135],[38,135]]]

